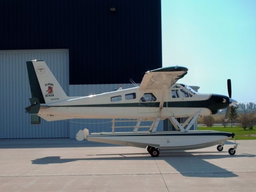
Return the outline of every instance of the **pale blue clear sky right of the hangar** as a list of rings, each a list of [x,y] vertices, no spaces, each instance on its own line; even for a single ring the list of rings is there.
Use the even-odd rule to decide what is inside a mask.
[[[178,82],[198,92],[256,102],[256,1],[162,0],[163,66],[185,66]]]

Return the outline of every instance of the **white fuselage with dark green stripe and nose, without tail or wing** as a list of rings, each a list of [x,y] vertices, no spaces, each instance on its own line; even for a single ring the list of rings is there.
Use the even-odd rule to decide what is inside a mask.
[[[72,97],[61,102],[41,104],[38,115],[51,120],[72,118],[166,119],[215,114],[229,106],[227,96],[200,94],[185,85],[174,84],[166,90],[140,90],[139,87],[86,97]],[[164,101],[164,102],[161,102]]]

